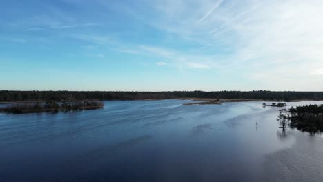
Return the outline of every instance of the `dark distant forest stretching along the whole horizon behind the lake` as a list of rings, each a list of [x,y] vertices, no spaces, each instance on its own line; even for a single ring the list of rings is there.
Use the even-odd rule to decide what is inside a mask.
[[[90,91],[0,91],[0,102],[13,101],[83,101],[83,100],[140,100],[140,99],[260,99],[293,101],[323,100],[323,92],[273,91],[175,91],[175,92],[90,92]]]

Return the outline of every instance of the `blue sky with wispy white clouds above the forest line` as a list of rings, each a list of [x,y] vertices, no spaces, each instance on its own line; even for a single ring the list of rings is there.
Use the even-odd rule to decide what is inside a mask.
[[[322,0],[0,2],[0,90],[323,91]]]

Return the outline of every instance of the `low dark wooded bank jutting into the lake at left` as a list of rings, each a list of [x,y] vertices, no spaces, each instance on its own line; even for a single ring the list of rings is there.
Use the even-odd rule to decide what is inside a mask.
[[[67,112],[80,110],[95,110],[104,107],[102,101],[46,101],[46,102],[29,102],[29,103],[12,103],[0,112],[23,114],[32,112]]]

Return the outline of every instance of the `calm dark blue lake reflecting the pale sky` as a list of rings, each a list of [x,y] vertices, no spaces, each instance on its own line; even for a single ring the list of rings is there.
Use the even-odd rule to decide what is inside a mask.
[[[322,181],[322,136],[282,132],[281,108],[189,102],[0,114],[0,181]]]

